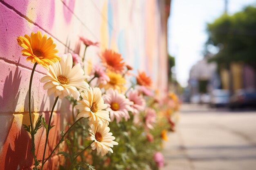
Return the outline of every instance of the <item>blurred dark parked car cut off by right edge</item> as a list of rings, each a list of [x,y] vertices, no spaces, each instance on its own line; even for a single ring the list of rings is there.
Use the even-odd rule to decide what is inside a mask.
[[[230,98],[229,108],[256,107],[255,90],[238,90]]]

